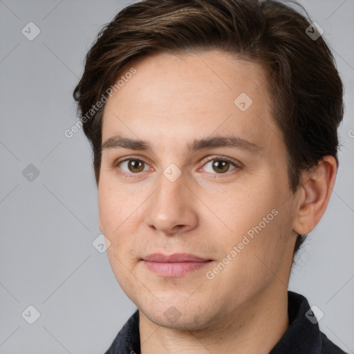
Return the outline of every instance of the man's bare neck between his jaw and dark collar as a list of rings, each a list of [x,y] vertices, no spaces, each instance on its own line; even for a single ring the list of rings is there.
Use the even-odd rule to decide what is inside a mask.
[[[153,324],[139,310],[142,354],[267,354],[289,326],[288,289],[279,281],[228,318],[200,330]]]

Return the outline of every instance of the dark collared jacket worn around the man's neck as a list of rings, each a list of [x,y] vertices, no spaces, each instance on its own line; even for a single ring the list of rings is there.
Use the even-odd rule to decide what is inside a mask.
[[[306,297],[288,290],[290,326],[269,354],[348,354],[319,330],[309,309]],[[309,314],[313,321],[308,319]],[[124,324],[105,354],[140,354],[138,310]]]

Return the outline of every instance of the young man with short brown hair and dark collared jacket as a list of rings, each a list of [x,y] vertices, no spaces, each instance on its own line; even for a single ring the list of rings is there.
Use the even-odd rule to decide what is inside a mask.
[[[106,353],[344,353],[288,291],[342,95],[317,26],[278,1],[143,0],[100,32],[74,97],[138,308]]]

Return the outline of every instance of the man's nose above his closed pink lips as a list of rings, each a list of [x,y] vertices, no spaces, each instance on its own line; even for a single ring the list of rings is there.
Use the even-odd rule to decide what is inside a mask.
[[[149,198],[147,225],[169,236],[193,230],[198,225],[198,201],[191,189],[183,175],[174,182],[161,175],[160,187]]]

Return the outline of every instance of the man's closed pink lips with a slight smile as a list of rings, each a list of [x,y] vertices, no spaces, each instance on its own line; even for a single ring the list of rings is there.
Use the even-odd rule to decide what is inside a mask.
[[[151,272],[162,277],[176,278],[204,268],[212,260],[187,253],[174,253],[169,255],[153,253],[148,254],[142,261]]]

